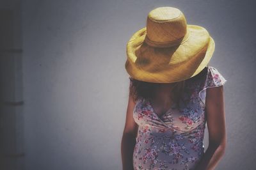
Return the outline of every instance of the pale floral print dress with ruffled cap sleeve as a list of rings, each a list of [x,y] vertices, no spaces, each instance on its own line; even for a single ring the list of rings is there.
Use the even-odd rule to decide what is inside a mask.
[[[174,104],[158,116],[149,100],[140,98],[136,102],[133,118],[139,128],[133,151],[134,170],[194,169],[200,161],[204,155],[206,89],[227,81],[212,66],[205,67],[202,74],[186,80],[179,109]]]

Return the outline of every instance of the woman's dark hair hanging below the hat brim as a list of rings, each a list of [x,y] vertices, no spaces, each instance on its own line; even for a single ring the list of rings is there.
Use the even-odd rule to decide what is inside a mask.
[[[173,102],[176,102],[179,105],[180,99],[182,99],[182,93],[186,90],[186,83],[190,81],[195,81],[196,79],[199,79],[202,77],[203,72],[206,72],[207,66],[197,75],[194,77],[191,77],[190,79],[186,79],[184,81],[179,82],[172,82],[170,83],[170,86],[172,86],[172,95],[170,95],[170,99]],[[132,96],[132,99],[134,102],[136,102],[139,98],[145,98],[146,100],[150,100],[154,97],[156,97],[156,89],[161,86],[163,83],[155,83],[155,82],[144,82],[144,81],[138,81],[132,77],[129,77],[130,79],[130,87],[129,87],[129,93]]]

